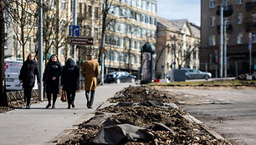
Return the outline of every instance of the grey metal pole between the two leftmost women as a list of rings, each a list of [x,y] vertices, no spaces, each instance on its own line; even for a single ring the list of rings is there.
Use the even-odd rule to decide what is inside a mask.
[[[39,76],[40,76],[40,80],[38,80],[38,82],[40,82],[39,84],[39,94],[38,94],[38,100],[42,101],[44,99],[44,95],[43,95],[43,0],[40,0],[40,9],[39,9]],[[45,56],[46,57],[46,56]]]

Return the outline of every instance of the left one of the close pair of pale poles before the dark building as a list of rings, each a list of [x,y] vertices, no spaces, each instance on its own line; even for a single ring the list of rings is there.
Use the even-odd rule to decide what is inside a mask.
[[[223,4],[220,7],[220,77],[223,77]]]

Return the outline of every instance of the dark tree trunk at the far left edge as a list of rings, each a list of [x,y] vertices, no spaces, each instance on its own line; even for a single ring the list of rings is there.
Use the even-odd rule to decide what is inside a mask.
[[[4,75],[4,19],[2,2],[0,3],[0,106],[8,106],[8,100],[5,93],[5,75]]]

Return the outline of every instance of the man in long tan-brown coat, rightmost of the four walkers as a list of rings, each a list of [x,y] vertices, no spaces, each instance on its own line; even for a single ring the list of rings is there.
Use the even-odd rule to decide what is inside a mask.
[[[99,77],[99,74],[100,74],[99,62],[96,62],[94,60],[94,56],[92,54],[89,54],[88,60],[83,63],[81,73],[84,77],[85,97],[87,99],[87,107],[92,108],[92,105],[95,99],[97,77]],[[90,99],[89,99],[89,94],[90,94]]]

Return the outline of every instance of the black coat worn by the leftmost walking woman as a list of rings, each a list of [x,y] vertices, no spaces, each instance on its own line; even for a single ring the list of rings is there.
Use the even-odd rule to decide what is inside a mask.
[[[20,73],[18,76],[18,79],[23,81],[23,88],[34,86],[35,75],[37,75],[39,81],[40,79],[38,71],[38,62],[36,62],[35,60],[25,61],[23,63],[23,67],[20,69]]]

